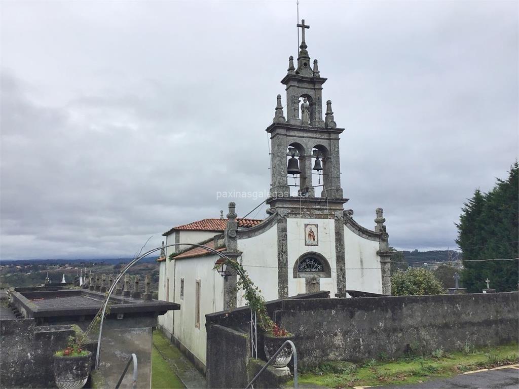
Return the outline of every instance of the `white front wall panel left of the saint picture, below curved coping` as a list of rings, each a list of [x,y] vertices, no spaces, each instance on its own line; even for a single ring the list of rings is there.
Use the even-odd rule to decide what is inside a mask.
[[[258,286],[265,300],[278,298],[278,227],[274,224],[270,229],[248,239],[238,239],[238,250],[243,269],[247,271],[252,282]],[[245,305],[243,292],[238,291],[236,304]]]

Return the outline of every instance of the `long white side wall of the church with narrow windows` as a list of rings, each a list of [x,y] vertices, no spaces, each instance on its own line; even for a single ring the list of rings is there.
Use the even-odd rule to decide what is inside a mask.
[[[174,336],[202,363],[206,363],[206,314],[223,310],[224,281],[213,270],[216,255],[176,260]],[[180,279],[184,279],[184,298],[180,299]],[[200,328],[195,326],[195,288],[200,280]]]

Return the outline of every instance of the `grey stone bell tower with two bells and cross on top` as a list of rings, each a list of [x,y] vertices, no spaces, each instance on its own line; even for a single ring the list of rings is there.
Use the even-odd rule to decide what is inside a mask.
[[[337,128],[330,100],[326,102],[323,120],[322,86],[326,78],[321,77],[316,59],[310,66],[305,40],[305,30],[310,26],[303,19],[297,27],[302,29],[297,68],[290,56],[287,74],[281,80],[286,90],[286,119],[278,94],[274,120],[266,129],[270,134],[272,162],[267,203],[279,206],[278,199],[283,199],[288,206],[291,200],[298,205],[302,200],[325,200],[335,206],[340,204],[342,209],[347,199],[343,199],[340,186],[339,135],[344,129]],[[317,185],[312,185],[312,175],[319,176]],[[288,178],[296,184],[289,186]],[[290,195],[291,186],[297,186],[297,196]]]

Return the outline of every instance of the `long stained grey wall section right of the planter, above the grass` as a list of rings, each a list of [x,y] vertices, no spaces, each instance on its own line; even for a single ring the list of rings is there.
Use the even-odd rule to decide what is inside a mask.
[[[299,366],[432,353],[518,340],[517,292],[287,300],[274,312],[296,334]]]

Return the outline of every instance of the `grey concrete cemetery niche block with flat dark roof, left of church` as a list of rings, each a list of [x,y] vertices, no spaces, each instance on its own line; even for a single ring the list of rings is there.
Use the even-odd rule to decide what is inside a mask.
[[[109,283],[106,278],[104,281]],[[53,353],[65,347],[73,328],[86,330],[104,298],[104,293],[89,289],[13,291],[10,305],[19,318],[2,317],[2,350],[12,352],[2,353],[0,387],[56,387],[52,375]],[[109,387],[115,387],[128,357],[135,353],[139,361],[136,387],[150,387],[152,331],[157,316],[179,310],[180,305],[120,295],[112,295],[110,302],[110,313],[103,323],[99,370],[92,373],[101,375]],[[95,355],[97,333],[90,338],[89,350]],[[13,369],[13,366],[24,368]],[[130,372],[120,387],[132,387],[131,381]]]

